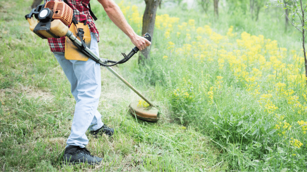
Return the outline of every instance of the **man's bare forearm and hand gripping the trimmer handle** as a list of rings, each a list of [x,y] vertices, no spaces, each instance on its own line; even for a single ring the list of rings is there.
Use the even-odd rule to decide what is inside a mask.
[[[113,0],[98,0],[106,11],[107,15],[113,23],[122,30],[131,40],[131,42],[138,47],[139,50],[145,49],[151,43],[146,38],[138,36],[125,19],[119,6]],[[146,45],[147,44],[147,45]]]

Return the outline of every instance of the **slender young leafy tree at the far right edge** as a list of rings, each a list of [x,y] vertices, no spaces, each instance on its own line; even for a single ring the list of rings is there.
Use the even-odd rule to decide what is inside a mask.
[[[302,0],[289,0],[287,3],[285,1],[278,0],[278,3],[282,4],[285,8],[283,8],[283,11],[288,17],[288,21],[291,22],[291,24],[297,28],[299,32],[302,34],[302,46],[303,46],[303,53],[304,53],[304,59],[305,59],[305,76],[307,78],[307,58],[306,58],[306,50],[305,50],[305,38],[306,38],[306,25],[307,20],[305,19],[306,13],[307,13],[307,2]],[[290,4],[293,4],[292,6]],[[292,13],[290,13],[290,12]],[[287,15],[287,13],[289,13]],[[293,20],[289,20],[289,18],[292,18]],[[306,80],[307,85],[307,80]]]

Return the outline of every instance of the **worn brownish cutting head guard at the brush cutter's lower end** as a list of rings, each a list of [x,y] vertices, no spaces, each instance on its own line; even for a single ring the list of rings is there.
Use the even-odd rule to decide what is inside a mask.
[[[141,119],[143,121],[147,122],[157,122],[158,121],[158,108],[149,106],[139,106],[139,102],[130,103],[129,105],[130,113],[137,117],[138,119]]]

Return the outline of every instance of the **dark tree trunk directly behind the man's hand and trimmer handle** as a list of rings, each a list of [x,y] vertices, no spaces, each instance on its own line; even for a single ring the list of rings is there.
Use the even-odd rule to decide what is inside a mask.
[[[142,27],[142,35],[149,33],[149,35],[153,38],[153,29],[156,21],[156,12],[157,8],[160,4],[161,0],[145,0],[146,7],[143,15],[143,27]],[[142,56],[138,57],[138,63],[144,62],[144,60],[150,59],[150,48],[147,47],[142,50]]]

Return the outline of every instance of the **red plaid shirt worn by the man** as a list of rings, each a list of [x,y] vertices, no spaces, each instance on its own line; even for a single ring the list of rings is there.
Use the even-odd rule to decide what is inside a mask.
[[[44,0],[47,3],[50,0]],[[91,17],[88,10],[88,3],[90,0],[67,0],[69,6],[73,9],[75,17],[78,22],[85,21],[87,19],[90,32],[94,32],[99,42],[99,32],[95,26],[94,19]],[[65,36],[60,38],[48,38],[50,50],[52,52],[64,52],[65,51]]]

